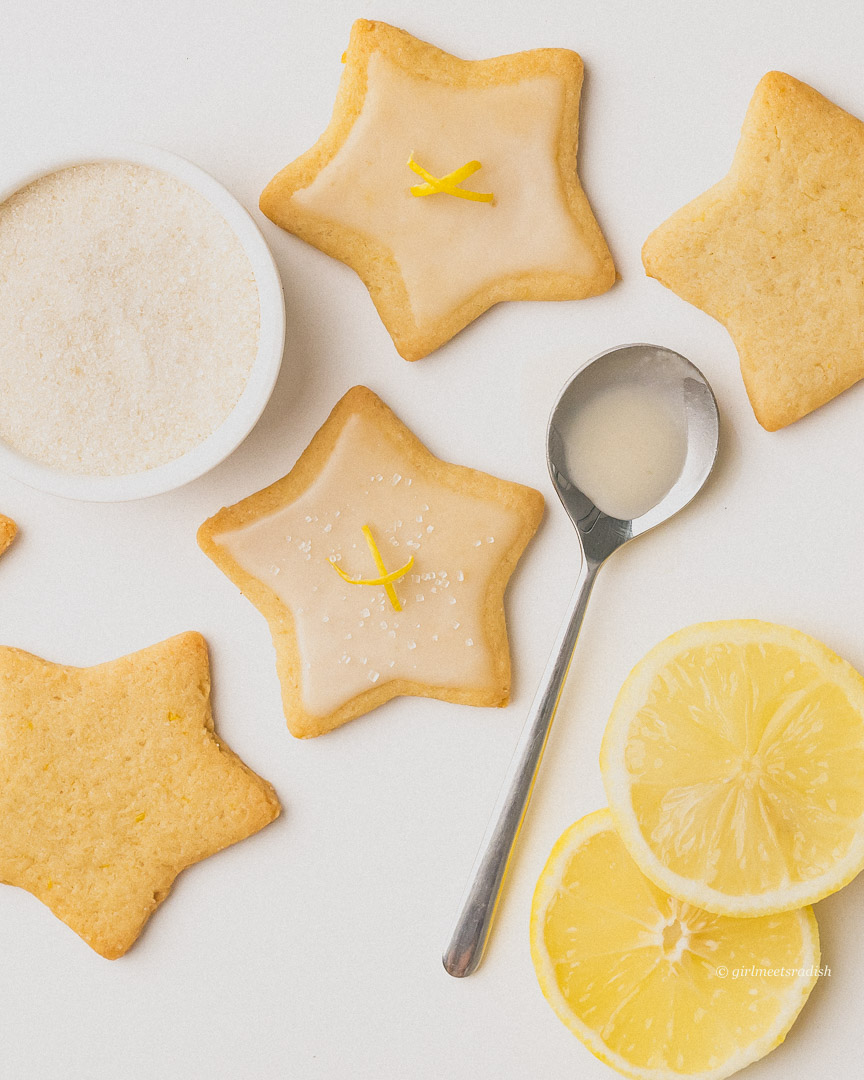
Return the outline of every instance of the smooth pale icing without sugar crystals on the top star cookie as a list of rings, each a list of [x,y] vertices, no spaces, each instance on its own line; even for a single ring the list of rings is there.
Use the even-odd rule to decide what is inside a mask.
[[[390,248],[419,325],[505,274],[591,274],[596,257],[569,213],[556,162],[563,105],[553,75],[448,86],[374,53],[348,138],[294,199]],[[411,154],[435,176],[478,160],[471,186],[495,202],[415,198]]]

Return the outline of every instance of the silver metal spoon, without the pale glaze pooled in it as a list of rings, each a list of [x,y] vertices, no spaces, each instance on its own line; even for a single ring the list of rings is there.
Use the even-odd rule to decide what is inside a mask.
[[[669,491],[632,521],[609,517],[573,483],[565,438],[580,406],[599,390],[636,382],[661,392],[686,433],[684,464]],[[546,462],[582,550],[579,582],[543,672],[491,820],[471,870],[459,917],[444,953],[444,967],[460,978],[476,971],[489,937],[510,856],[555,716],[579,627],[597,571],[618,548],[672,517],[705,483],[717,456],[717,403],[702,373],[689,360],[653,345],[629,345],[600,353],[562,391],[546,432]]]

